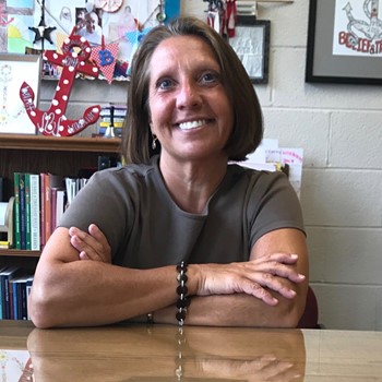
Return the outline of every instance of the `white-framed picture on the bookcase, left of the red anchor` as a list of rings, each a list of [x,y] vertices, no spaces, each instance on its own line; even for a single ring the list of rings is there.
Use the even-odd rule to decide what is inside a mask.
[[[0,53],[0,133],[36,133],[20,98],[20,87],[27,82],[38,106],[40,73],[40,55]]]

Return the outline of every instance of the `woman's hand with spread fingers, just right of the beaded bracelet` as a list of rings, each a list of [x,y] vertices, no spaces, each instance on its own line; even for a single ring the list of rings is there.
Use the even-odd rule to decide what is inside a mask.
[[[290,284],[306,278],[294,267],[297,260],[297,254],[272,253],[248,262],[192,265],[200,274],[196,295],[247,294],[275,306],[278,300],[272,290],[291,299],[296,291]]]

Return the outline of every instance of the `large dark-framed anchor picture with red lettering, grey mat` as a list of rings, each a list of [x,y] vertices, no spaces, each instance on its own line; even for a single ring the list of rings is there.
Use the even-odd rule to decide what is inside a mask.
[[[310,0],[307,82],[382,84],[380,0]]]

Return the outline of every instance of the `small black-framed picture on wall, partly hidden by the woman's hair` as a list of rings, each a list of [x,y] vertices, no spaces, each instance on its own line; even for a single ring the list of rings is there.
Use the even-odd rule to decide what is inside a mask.
[[[238,15],[235,37],[229,44],[244,65],[253,84],[267,84],[271,22],[253,15]]]

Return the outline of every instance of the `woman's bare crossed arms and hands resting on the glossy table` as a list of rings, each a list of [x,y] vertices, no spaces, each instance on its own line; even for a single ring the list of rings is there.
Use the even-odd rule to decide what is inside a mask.
[[[264,235],[248,262],[191,264],[194,325],[294,327],[305,309],[308,254],[305,235],[278,229]],[[175,266],[133,270],[111,264],[105,236],[58,228],[38,262],[29,310],[38,327],[91,326],[139,320],[176,323]]]

